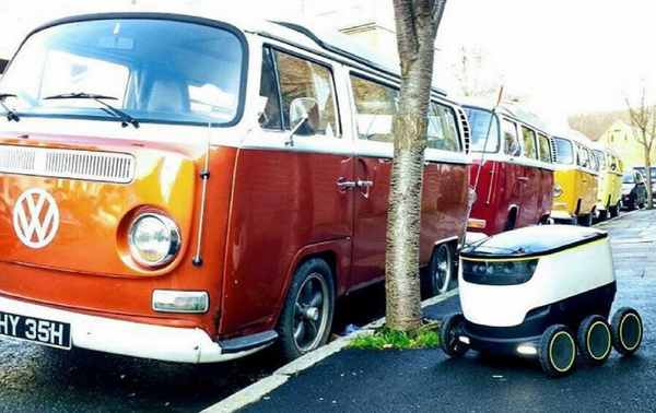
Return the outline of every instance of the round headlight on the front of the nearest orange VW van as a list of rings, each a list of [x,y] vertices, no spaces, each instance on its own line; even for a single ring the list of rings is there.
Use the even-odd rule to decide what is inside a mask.
[[[157,267],[171,262],[180,249],[180,231],[171,219],[148,212],[139,215],[128,236],[137,262]]]

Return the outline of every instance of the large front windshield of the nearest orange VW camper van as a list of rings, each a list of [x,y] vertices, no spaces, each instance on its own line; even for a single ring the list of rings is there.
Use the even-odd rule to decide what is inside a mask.
[[[0,81],[20,116],[115,119],[85,93],[139,121],[236,121],[244,50],[226,30],[166,20],[97,20],[31,36]]]

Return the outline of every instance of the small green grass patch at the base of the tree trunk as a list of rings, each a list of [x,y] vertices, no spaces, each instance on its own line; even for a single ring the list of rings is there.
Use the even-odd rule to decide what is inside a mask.
[[[432,349],[440,345],[441,324],[441,321],[426,320],[414,334],[382,327],[371,335],[356,337],[351,341],[349,347],[361,350]]]

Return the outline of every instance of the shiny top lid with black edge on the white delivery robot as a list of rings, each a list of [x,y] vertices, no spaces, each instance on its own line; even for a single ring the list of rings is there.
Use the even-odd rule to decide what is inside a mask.
[[[528,226],[467,246],[465,258],[529,258],[546,256],[608,237],[608,233],[573,225]]]

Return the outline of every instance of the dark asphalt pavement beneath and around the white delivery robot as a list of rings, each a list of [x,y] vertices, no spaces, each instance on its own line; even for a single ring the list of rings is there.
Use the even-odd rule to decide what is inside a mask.
[[[536,361],[470,352],[447,358],[422,351],[345,350],[291,378],[239,413],[621,413],[656,412],[656,211],[641,211],[602,226],[609,231],[618,274],[614,311],[636,308],[645,334],[632,357],[612,352],[600,367],[577,363],[562,379]],[[585,271],[585,262],[581,266]],[[458,309],[457,297],[429,307],[432,317]]]

